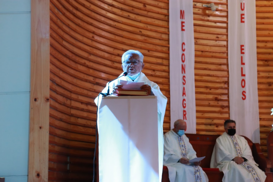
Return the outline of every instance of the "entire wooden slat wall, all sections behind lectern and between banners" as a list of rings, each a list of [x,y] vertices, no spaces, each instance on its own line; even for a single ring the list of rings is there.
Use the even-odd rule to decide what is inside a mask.
[[[202,7],[211,2],[219,6],[216,12]],[[256,0],[256,6],[261,145],[266,152],[273,107],[273,5]],[[49,180],[92,179],[94,99],[122,72],[121,56],[128,49],[143,53],[143,72],[167,96],[163,130],[172,128],[168,8],[167,0],[50,0]],[[193,0],[193,10],[197,133],[221,134],[229,118],[227,0]]]

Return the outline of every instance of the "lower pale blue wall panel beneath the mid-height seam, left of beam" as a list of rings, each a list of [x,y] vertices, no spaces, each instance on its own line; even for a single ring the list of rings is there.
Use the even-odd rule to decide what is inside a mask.
[[[28,174],[29,95],[0,94],[0,176]]]

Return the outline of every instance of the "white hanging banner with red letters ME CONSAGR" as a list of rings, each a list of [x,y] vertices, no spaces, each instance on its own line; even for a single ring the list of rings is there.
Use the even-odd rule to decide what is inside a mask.
[[[184,119],[186,133],[196,133],[193,1],[172,0],[169,10],[171,128]]]

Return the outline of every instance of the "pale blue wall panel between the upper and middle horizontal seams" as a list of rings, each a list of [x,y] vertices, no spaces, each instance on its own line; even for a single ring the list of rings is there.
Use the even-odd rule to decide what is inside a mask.
[[[30,91],[30,13],[0,14],[0,93]]]

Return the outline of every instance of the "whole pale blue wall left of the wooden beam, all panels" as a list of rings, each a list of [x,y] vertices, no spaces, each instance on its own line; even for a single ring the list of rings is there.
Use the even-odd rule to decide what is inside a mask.
[[[0,0],[0,177],[27,182],[31,0]]]

